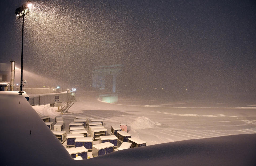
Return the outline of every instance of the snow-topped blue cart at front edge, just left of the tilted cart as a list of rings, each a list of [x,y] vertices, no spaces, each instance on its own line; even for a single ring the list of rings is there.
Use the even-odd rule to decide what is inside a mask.
[[[112,153],[113,149],[114,145],[110,142],[93,145],[93,156],[97,157],[107,153]]]

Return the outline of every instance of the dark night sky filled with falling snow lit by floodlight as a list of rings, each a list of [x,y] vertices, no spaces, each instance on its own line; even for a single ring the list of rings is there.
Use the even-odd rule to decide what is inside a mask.
[[[22,20],[14,11],[25,2],[0,2],[0,62],[17,67]],[[119,89],[255,92],[256,1],[32,3],[23,70],[35,75],[89,86],[93,67],[123,64]]]

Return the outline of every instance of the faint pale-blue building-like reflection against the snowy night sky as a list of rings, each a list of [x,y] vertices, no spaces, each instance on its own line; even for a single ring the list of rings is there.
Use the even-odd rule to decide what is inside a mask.
[[[122,64],[97,66],[93,69],[93,87],[116,92],[117,76],[123,69]]]

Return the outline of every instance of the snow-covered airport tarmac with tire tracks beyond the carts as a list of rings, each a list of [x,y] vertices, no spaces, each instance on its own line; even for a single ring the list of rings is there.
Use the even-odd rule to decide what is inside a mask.
[[[64,131],[68,133],[68,124],[76,116],[89,116],[103,119],[108,133],[111,125],[127,123],[128,133],[146,141],[147,145],[256,133],[255,106],[225,107],[225,103],[191,100],[170,103],[170,99],[166,103],[163,99],[154,99],[154,105],[144,105],[148,103],[145,101],[119,97],[118,103],[111,104],[101,102],[93,92],[78,92],[77,101],[62,115]],[[50,116],[52,122],[60,114],[56,112],[57,107],[49,105],[33,108],[40,115]]]

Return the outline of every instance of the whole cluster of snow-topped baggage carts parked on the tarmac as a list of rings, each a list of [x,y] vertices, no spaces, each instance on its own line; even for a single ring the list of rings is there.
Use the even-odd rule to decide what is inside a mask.
[[[55,117],[54,126],[49,116],[41,118],[61,143],[66,141],[66,149],[73,159],[87,159],[88,152],[92,152],[93,157],[97,157],[111,153],[114,149],[146,146],[146,141],[131,137],[127,133],[127,124],[111,126],[111,135],[107,135],[102,119],[91,119],[89,122],[89,117],[79,116],[69,124],[69,134],[66,134],[66,131],[63,131],[64,121],[61,116]],[[96,140],[99,140],[99,144],[93,144]]]

